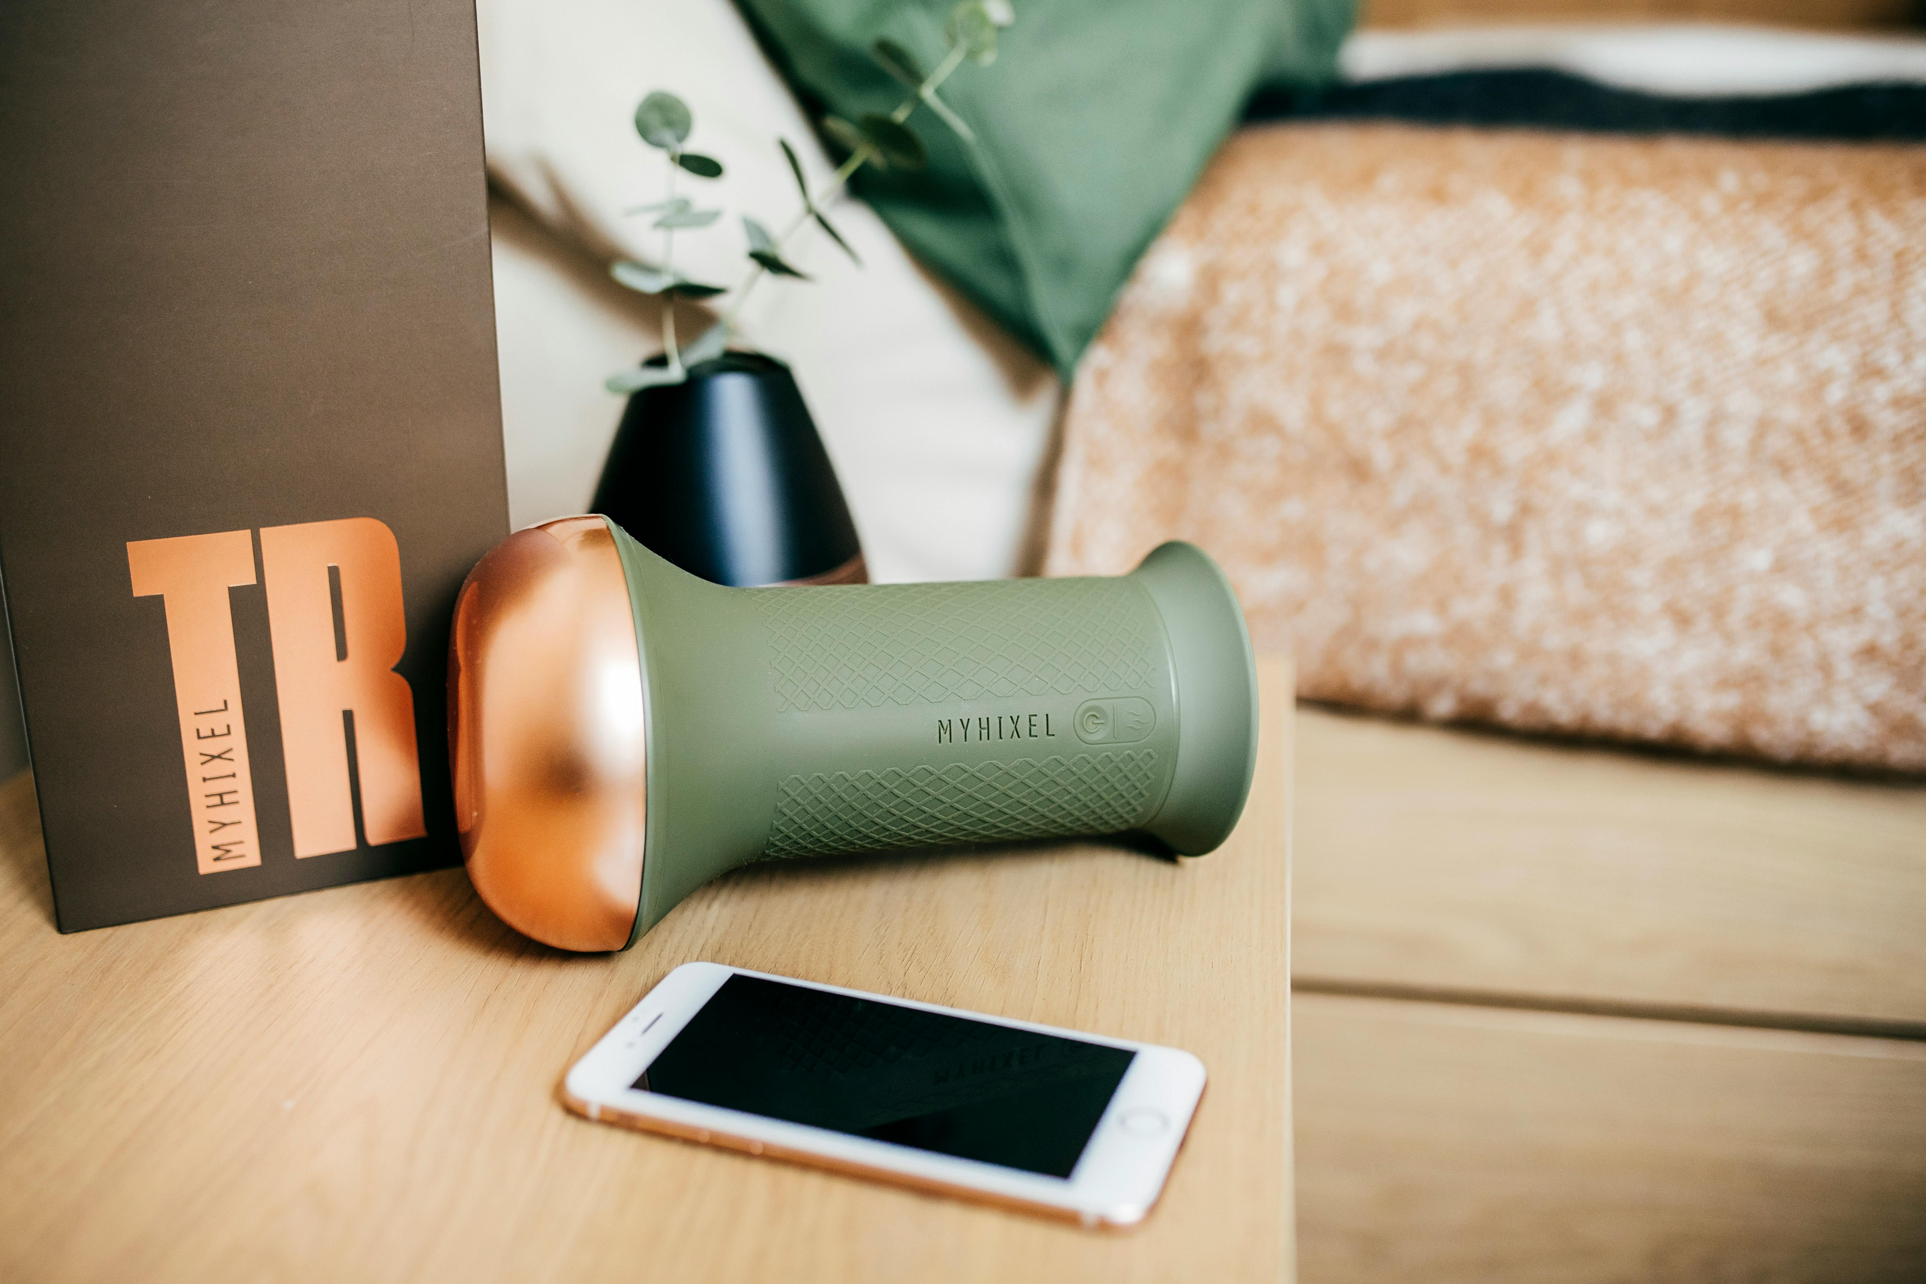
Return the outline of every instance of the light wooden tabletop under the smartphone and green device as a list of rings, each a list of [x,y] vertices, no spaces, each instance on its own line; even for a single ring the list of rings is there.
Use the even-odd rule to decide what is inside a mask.
[[[1290,678],[1198,860],[1117,843],[782,862],[624,955],[560,955],[460,870],[58,936],[0,791],[0,1280],[1288,1280]],[[1198,1053],[1132,1232],[591,1124],[557,1084],[690,959]]]

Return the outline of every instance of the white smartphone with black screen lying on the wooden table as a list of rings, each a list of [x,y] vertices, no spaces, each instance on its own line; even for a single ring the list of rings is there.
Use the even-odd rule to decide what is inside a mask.
[[[1175,1047],[686,963],[568,1070],[568,1109],[1005,1207],[1131,1226],[1204,1063]]]

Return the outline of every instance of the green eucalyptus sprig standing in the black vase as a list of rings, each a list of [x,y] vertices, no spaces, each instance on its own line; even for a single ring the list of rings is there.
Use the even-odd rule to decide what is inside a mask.
[[[609,375],[607,389],[616,395],[628,395],[659,383],[682,383],[688,377],[690,366],[720,356],[722,350],[728,348],[730,339],[736,335],[736,321],[742,316],[743,304],[749,300],[749,293],[755,291],[755,285],[765,275],[792,277],[797,281],[809,279],[807,273],[782,256],[784,246],[788,246],[795,233],[809,223],[820,227],[824,235],[828,235],[828,239],[849,256],[851,262],[861,266],[863,260],[849,246],[849,243],[844,241],[842,233],[836,231],[836,225],[830,223],[828,214],[824,214],[824,206],[842,194],[844,187],[863,166],[915,171],[928,164],[928,152],[923,148],[923,139],[909,129],[909,117],[915,116],[917,108],[930,108],[930,112],[955,131],[959,139],[975,142],[976,135],[971,133],[971,127],[963,121],[963,117],[957,116],[936,90],[940,90],[944,81],[948,81],[965,62],[973,62],[980,67],[988,67],[996,62],[998,33],[1013,21],[1017,21],[1017,13],[1009,0],[961,0],[953,10],[950,10],[950,19],[944,23],[944,44],[948,52],[944,54],[944,60],[936,64],[936,69],[928,73],[921,69],[915,54],[905,50],[896,40],[876,40],[871,48],[876,64],[896,77],[909,90],[909,96],[903,98],[890,114],[871,112],[855,121],[842,119],[840,116],[822,117],[822,133],[846,150],[847,156],[836,167],[836,173],[830,175],[828,183],[817,191],[811,191],[809,177],[803,173],[803,164],[797,160],[795,148],[790,146],[788,139],[776,139],[784,160],[790,162],[790,173],[795,175],[795,191],[801,193],[803,208],[797,210],[780,235],[770,233],[765,223],[749,218],[747,214],[742,218],[743,237],[747,237],[749,243],[749,268],[734,289],[728,291],[716,285],[690,281],[674,270],[676,231],[709,227],[720,216],[720,210],[697,210],[688,198],[676,196],[676,171],[686,169],[688,173],[715,179],[722,175],[722,164],[709,156],[682,150],[682,144],[688,141],[695,123],[688,104],[674,94],[661,90],[643,98],[641,106],[636,108],[636,133],[641,135],[643,142],[668,156],[668,193],[663,200],[647,206],[636,206],[634,210],[628,210],[628,214],[657,216],[653,227],[663,231],[663,266],[649,268],[647,264],[638,264],[634,260],[620,260],[612,264],[609,271],[628,289],[663,298],[663,350],[668,362],[666,366],[638,366]],[[686,348],[676,347],[676,298],[715,298],[718,295],[734,295],[734,300],[722,318],[703,331],[695,343]]]

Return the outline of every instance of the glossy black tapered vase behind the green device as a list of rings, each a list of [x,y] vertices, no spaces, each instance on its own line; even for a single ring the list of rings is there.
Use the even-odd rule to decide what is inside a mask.
[[[761,352],[724,352],[630,395],[595,512],[715,583],[869,581],[795,377]]]

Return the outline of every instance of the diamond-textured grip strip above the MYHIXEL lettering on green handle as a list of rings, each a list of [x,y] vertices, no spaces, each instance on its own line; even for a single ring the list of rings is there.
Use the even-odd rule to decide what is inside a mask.
[[[782,712],[1140,691],[1163,656],[1129,579],[751,593]]]

